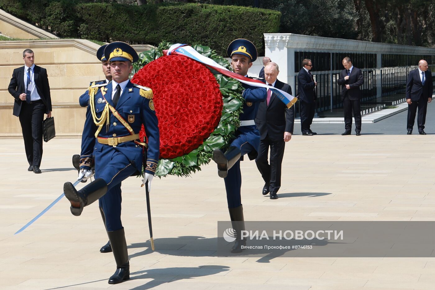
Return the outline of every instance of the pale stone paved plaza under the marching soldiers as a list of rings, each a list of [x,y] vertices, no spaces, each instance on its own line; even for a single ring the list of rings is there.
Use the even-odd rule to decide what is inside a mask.
[[[333,128],[325,135],[294,135],[285,150],[278,200],[261,195],[255,163],[242,162],[245,219],[434,220],[435,135],[403,134],[405,114],[363,124],[366,134],[359,137],[332,134],[341,133],[344,125],[328,124],[313,125],[319,133]],[[432,109],[429,115],[433,117]],[[426,132],[435,132],[433,124],[427,122]],[[379,134],[375,125],[395,126],[400,135]],[[109,285],[116,266],[111,253],[99,252],[107,235],[97,203],[76,217],[62,199],[14,236],[62,193],[64,182],[77,178],[71,156],[79,150],[79,139],[45,143],[42,174],[37,175],[27,172],[21,139],[0,140],[0,289],[434,289],[433,258],[216,256],[217,221],[228,220],[229,214],[214,164],[189,178],[153,180],[154,252],[141,179],[123,182],[131,279]]]

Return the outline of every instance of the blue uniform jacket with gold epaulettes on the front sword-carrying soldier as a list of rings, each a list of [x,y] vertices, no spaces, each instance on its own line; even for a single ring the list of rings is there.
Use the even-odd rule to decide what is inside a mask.
[[[141,125],[144,124],[145,132],[148,138],[147,160],[145,172],[154,174],[157,168],[159,158],[160,137],[158,130],[157,117],[154,111],[154,102],[152,99],[145,98],[140,95],[137,88],[130,81],[127,83],[124,91],[122,92],[115,110],[119,115],[131,126],[134,134],[141,130]],[[100,85],[97,93],[94,96],[95,113],[97,118],[100,118],[106,102],[114,107],[112,102],[112,82]],[[122,137],[129,136],[130,132],[122,123],[112,114],[109,110],[108,114],[109,126],[106,122],[98,135],[101,138]],[[134,141],[119,143],[118,145],[101,144],[95,139],[95,132],[97,126],[94,123],[90,112],[90,105],[88,105],[86,113],[86,121],[82,135],[82,152],[80,156],[80,168],[87,168],[87,158],[92,158],[93,152],[103,151],[117,151],[124,154],[130,163],[138,170],[141,171],[143,163],[142,147]],[[139,140],[137,140],[139,141]],[[110,154],[104,154],[110,156]],[[100,164],[105,164],[110,160],[95,160]]]

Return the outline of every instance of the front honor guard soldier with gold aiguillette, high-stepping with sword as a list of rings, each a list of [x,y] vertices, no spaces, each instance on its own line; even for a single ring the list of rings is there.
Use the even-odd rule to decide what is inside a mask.
[[[128,79],[133,68],[131,64],[138,59],[136,51],[117,41],[107,45],[104,55],[110,62],[113,81],[96,84],[89,90],[92,122],[87,120],[85,123],[80,156],[80,176],[86,176],[91,170],[94,153],[95,180],[78,191],[66,182],[64,193],[74,216],[80,216],[85,206],[101,199],[107,235],[117,264],[108,283],[116,284],[130,278],[127,243],[120,218],[121,182],[141,172],[146,160],[142,182],[147,182],[151,189],[159,157],[159,131],[151,89],[132,84]],[[139,140],[142,124],[148,144]],[[91,136],[94,136],[94,142],[90,142]]]

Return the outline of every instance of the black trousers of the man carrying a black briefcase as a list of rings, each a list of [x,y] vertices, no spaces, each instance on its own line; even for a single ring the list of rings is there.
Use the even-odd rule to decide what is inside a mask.
[[[24,149],[29,165],[40,166],[42,159],[42,121],[45,105],[42,101],[32,104],[23,102],[20,111],[20,124],[23,131]]]

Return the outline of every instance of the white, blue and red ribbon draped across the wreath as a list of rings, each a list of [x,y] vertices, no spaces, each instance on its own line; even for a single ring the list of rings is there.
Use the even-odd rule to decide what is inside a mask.
[[[263,83],[262,81],[254,80],[251,78],[244,77],[240,74],[236,74],[232,71],[229,71],[225,67],[221,66],[220,64],[213,61],[211,58],[204,57],[203,55],[199,54],[197,51],[194,50],[193,47],[187,45],[187,44],[173,44],[171,47],[169,47],[168,50],[163,51],[164,55],[171,55],[171,54],[179,54],[184,55],[185,57],[189,57],[193,59],[194,61],[198,61],[201,64],[206,65],[207,67],[214,69],[215,71],[220,72],[221,74],[234,78],[241,83],[248,84],[254,87],[260,87],[260,88],[266,88],[272,90],[277,97],[287,106],[287,108],[291,108],[291,106],[298,101],[297,98],[293,97],[291,94],[288,94],[285,91],[281,91],[277,88],[271,88],[267,84]]]

